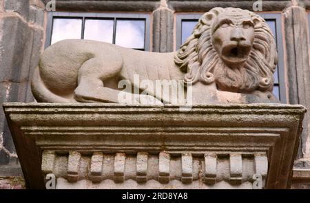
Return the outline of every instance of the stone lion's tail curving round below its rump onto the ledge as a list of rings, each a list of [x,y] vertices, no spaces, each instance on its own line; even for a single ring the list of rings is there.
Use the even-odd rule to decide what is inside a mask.
[[[63,98],[58,96],[45,87],[40,76],[39,66],[34,70],[31,82],[31,89],[34,98],[42,103],[76,103],[74,99]]]

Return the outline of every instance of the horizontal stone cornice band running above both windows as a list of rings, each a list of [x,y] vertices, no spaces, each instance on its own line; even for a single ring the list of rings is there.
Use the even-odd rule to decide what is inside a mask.
[[[50,0],[43,0],[48,3]],[[254,1],[183,1],[169,0],[167,5],[176,12],[207,12],[214,7],[234,7],[253,10]],[[262,1],[263,11],[282,11],[291,5],[289,0],[264,0]],[[83,0],[56,0],[56,10],[65,11],[153,11],[160,6],[160,0],[147,1],[83,1]]]

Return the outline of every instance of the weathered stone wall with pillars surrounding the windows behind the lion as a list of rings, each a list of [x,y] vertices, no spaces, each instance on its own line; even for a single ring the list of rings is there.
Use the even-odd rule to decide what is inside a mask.
[[[0,103],[32,102],[30,91],[32,70],[37,65],[44,44],[45,3],[49,0],[0,0]],[[310,109],[309,27],[307,0],[264,0],[264,12],[282,12],[283,45],[285,47],[285,80],[287,100]],[[117,11],[152,12],[152,50],[174,50],[176,12],[207,12],[216,6],[252,10],[254,0],[146,0],[146,1],[83,1],[56,0],[56,10],[63,11]],[[293,188],[310,188],[310,111],[304,119]],[[307,175],[308,174],[308,175]],[[12,137],[2,109],[0,110],[0,188],[10,185],[11,178],[22,172]],[[2,177],[2,178],[1,178]],[[3,183],[4,182],[4,183]],[[22,185],[22,184],[21,184]],[[7,186],[9,188],[14,188]],[[21,186],[23,187],[23,186]]]

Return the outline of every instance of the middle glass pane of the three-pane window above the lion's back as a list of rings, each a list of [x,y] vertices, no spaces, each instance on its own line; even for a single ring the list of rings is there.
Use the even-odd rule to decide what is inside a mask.
[[[85,20],[84,39],[113,43],[114,20]]]

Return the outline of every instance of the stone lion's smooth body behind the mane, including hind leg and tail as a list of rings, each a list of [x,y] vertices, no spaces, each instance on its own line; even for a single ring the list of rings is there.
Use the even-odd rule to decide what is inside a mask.
[[[85,61],[89,54],[94,57]],[[76,55],[82,57],[77,59]],[[169,102],[169,98],[164,98],[164,94],[156,94],[155,98],[152,87],[145,87],[147,94],[140,96],[132,94],[132,85],[126,86],[130,87],[130,93],[118,90],[118,85],[124,82],[119,77],[128,80],[125,83],[136,84],[135,87],[140,87],[141,81],[181,80],[183,73],[176,67],[173,56],[174,53],[140,52],[98,41],[61,41],[42,54],[34,71],[32,92],[38,101],[49,103],[162,104],[160,100]],[[94,65],[97,63],[100,68]],[[151,66],[156,68],[149,69]]]

